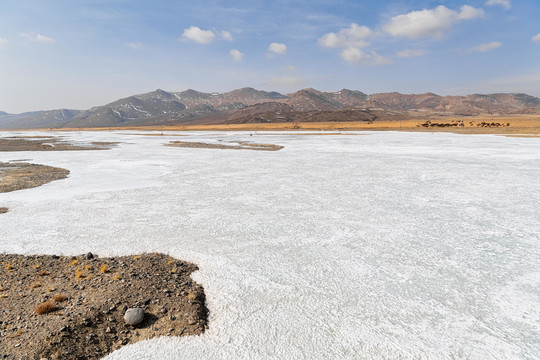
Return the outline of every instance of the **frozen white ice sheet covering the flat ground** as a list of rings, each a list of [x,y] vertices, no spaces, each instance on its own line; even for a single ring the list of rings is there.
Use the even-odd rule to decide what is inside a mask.
[[[366,134],[74,132],[122,144],[0,152],[71,170],[0,194],[0,252],[197,263],[209,330],[108,360],[538,359],[540,139]],[[163,146],[219,139],[285,149]]]

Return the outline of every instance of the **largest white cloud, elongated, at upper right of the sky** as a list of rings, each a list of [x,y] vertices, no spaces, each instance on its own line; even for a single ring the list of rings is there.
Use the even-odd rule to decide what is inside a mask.
[[[393,36],[403,36],[411,39],[419,37],[441,37],[445,30],[462,20],[471,20],[484,16],[484,10],[469,5],[461,7],[460,11],[448,9],[439,5],[434,9],[411,11],[390,19],[383,29]]]

